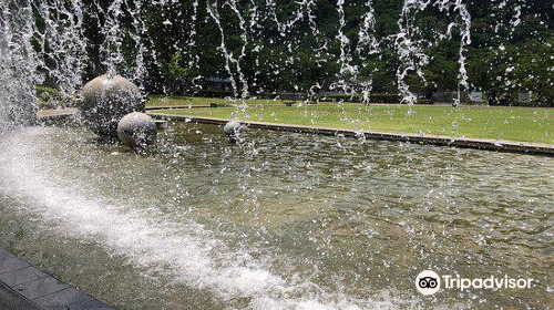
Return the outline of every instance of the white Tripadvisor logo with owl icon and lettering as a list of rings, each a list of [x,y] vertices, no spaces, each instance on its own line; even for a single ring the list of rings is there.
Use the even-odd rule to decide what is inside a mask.
[[[489,278],[461,278],[460,276],[444,275],[439,277],[432,270],[421,271],[416,278],[416,288],[422,294],[433,294],[439,291],[441,285],[444,289],[456,289],[460,291],[466,289],[529,289],[533,279],[514,279],[507,276],[497,278],[491,276]]]

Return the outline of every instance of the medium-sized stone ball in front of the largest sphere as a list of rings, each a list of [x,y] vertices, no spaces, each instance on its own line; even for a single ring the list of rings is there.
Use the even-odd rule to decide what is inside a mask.
[[[156,141],[156,123],[142,112],[132,112],[117,125],[120,141],[129,147],[146,148]]]

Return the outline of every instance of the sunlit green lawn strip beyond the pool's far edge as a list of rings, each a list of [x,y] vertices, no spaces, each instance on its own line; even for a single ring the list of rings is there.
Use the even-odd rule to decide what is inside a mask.
[[[196,99],[192,102],[196,102]],[[264,102],[267,103],[267,101]],[[270,102],[276,103],[275,101]],[[238,110],[234,107],[198,107],[158,112],[218,118],[230,118],[232,114],[235,113],[242,120],[257,122],[554,144],[554,110],[552,108],[365,106],[357,103],[285,106],[280,102],[277,102],[279,104],[277,106],[253,106],[253,103],[255,102],[247,102],[248,107]]]

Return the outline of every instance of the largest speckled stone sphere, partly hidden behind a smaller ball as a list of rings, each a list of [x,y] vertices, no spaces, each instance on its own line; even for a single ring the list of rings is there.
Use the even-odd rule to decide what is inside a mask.
[[[101,136],[115,137],[127,113],[144,111],[141,90],[120,75],[101,75],[84,85],[79,110],[84,124]]]

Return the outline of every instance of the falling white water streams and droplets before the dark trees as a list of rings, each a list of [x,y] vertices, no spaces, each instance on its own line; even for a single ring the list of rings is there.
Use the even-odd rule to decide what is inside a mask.
[[[61,91],[65,97],[74,100],[78,91],[83,85],[83,78],[86,80],[96,75],[107,73],[109,75],[121,74],[141,85],[143,91],[147,87],[144,83],[148,78],[160,72],[156,49],[148,38],[150,30],[147,20],[152,19],[147,14],[148,10],[172,10],[175,1],[142,1],[142,0],[117,0],[110,6],[103,6],[101,1],[83,2],[82,0],[71,1],[3,1],[2,3],[2,53],[4,68],[17,68],[16,71],[27,72],[19,74],[14,70],[4,70],[3,80],[21,79],[16,84],[27,85],[27,97],[18,104],[8,104],[12,111],[30,111],[34,105],[32,86],[45,84]],[[417,102],[417,93],[413,91],[413,83],[417,80],[424,85],[428,84],[425,68],[430,64],[433,55],[428,54],[428,50],[437,46],[445,40],[459,40],[458,52],[458,91],[454,105],[462,102],[462,92],[469,90],[470,81],[466,69],[468,46],[471,44],[471,14],[463,0],[406,0],[402,2],[400,16],[397,20],[398,31],[396,33],[378,38],[373,1],[369,0],[360,6],[361,16],[359,25],[352,35],[351,25],[347,24],[350,17],[349,1],[337,1],[335,10],[338,18],[338,29],[335,42],[322,35],[319,23],[321,17],[317,10],[321,6],[316,0],[302,0],[293,3],[289,12],[284,14],[278,11],[278,3],[275,0],[265,1],[201,1],[195,0],[189,4],[188,16],[177,14],[179,23],[189,23],[187,38],[184,41],[175,38],[174,49],[181,52],[187,60],[188,68],[201,71],[198,66],[203,54],[194,54],[197,44],[196,37],[201,23],[213,22],[219,32],[217,49],[225,60],[225,72],[232,84],[233,95],[244,101],[250,95],[263,94],[268,90],[268,85],[259,82],[260,74],[269,73],[274,75],[287,74],[295,71],[294,65],[298,63],[298,50],[302,45],[301,35],[309,35],[317,46],[314,46],[314,56],[317,63],[335,61],[339,70],[332,78],[321,79],[312,85],[307,85],[304,91],[309,97],[314,97],[325,89],[339,90],[349,95],[361,94],[362,102],[370,102],[370,94],[373,89],[372,75],[377,69],[363,72],[368,56],[380,56],[380,54],[393,49],[398,56],[396,66],[396,82],[398,92],[404,103]],[[501,2],[499,9],[513,10],[509,21],[510,33],[513,35],[515,29],[522,24],[521,17],[524,2],[519,1],[507,8],[507,2]],[[94,10],[98,14],[84,11]],[[199,11],[205,10],[211,17],[208,20],[199,20]],[[434,33],[433,38],[423,35],[419,29],[419,18],[425,11],[438,10],[450,21],[445,25],[443,33]],[[32,13],[40,17],[34,21]],[[222,21],[220,12],[224,12],[225,20]],[[234,17],[229,17],[229,12]],[[20,19],[16,22],[13,17]],[[188,18],[188,19],[187,19]],[[96,27],[84,29],[86,19],[95,21]],[[148,22],[151,22],[148,20]],[[299,25],[307,23],[311,33],[297,33]],[[171,28],[173,22],[168,19],[164,21],[164,27]],[[501,22],[495,25],[495,32],[500,31]],[[288,54],[278,54],[274,59],[266,60],[264,54],[270,53],[271,48],[263,43],[260,29],[275,27],[278,38],[270,39],[271,44],[283,44],[287,46]],[[90,32],[99,31],[99,34],[90,38]],[[356,38],[357,37],[357,38]],[[308,39],[308,38],[307,38]],[[99,49],[98,54],[91,45]],[[337,46],[338,49],[334,48]],[[9,48],[8,48],[9,46]],[[338,51],[338,53],[335,52]],[[127,52],[124,52],[127,51]],[[129,52],[131,51],[131,52]],[[335,54],[334,54],[335,53]],[[332,59],[336,56],[336,59]],[[261,61],[264,60],[264,61]],[[10,62],[18,63],[10,66]],[[19,64],[21,63],[21,64]],[[255,64],[256,68],[249,68]],[[247,68],[245,68],[247,66]],[[268,71],[266,73],[266,71]],[[510,73],[510,72],[507,72]],[[11,75],[12,78],[8,78]],[[192,92],[201,90],[198,81],[212,76],[196,75],[192,79]],[[28,80],[27,82],[23,80]],[[266,78],[265,78],[266,79]],[[329,81],[330,80],[330,81]],[[7,85],[7,83],[3,83]],[[291,90],[299,90],[297,84],[291,85]],[[9,93],[8,91],[2,92]],[[6,95],[7,97],[10,95]],[[11,95],[14,100],[13,96]],[[17,96],[22,96],[19,94]],[[23,103],[25,101],[25,103]],[[28,102],[27,102],[28,101]],[[16,107],[18,106],[18,107]],[[23,107],[27,106],[27,107]],[[240,107],[237,107],[240,108]],[[235,116],[238,117],[238,110]],[[23,112],[21,112],[23,113]],[[242,113],[244,110],[244,102]],[[2,113],[10,114],[10,113]],[[11,113],[13,114],[13,113]],[[32,113],[27,113],[32,114]],[[10,116],[18,118],[18,116]],[[29,118],[29,117],[25,117]]]

